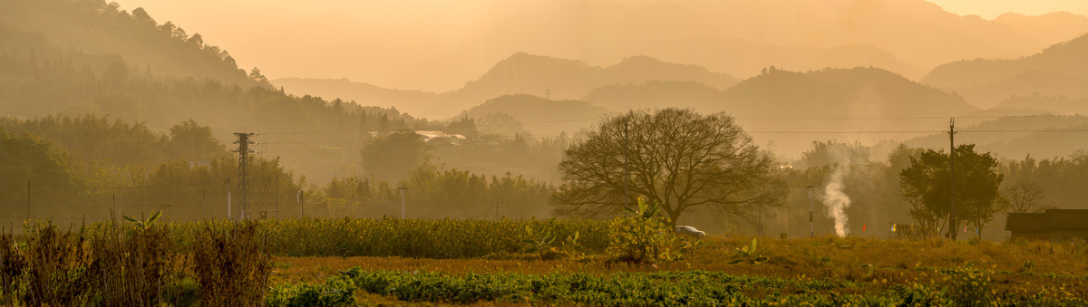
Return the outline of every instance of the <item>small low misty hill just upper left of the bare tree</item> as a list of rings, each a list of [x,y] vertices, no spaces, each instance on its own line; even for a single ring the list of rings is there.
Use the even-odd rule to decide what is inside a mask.
[[[487,102],[465,111],[462,115],[480,122],[480,119],[498,113],[510,115],[520,123],[522,130],[532,134],[556,135],[560,132],[573,134],[590,127],[610,111],[581,100],[552,100],[520,94],[489,99]]]

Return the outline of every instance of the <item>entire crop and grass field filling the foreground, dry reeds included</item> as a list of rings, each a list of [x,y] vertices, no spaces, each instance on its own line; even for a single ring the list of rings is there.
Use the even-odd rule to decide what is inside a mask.
[[[37,224],[0,240],[0,297],[29,305],[198,306],[1088,304],[1084,242],[730,234],[696,241],[669,233],[673,237],[663,248],[675,253],[634,262],[617,260],[619,220],[308,219],[70,230]],[[37,265],[28,257],[50,248],[69,256]],[[124,248],[140,261],[101,257]],[[152,254],[166,260],[145,257]],[[12,259],[24,259],[24,266]],[[224,273],[226,267],[235,275]],[[161,286],[113,297],[102,290],[109,283],[98,279]],[[86,291],[57,300],[37,291],[42,285]]]

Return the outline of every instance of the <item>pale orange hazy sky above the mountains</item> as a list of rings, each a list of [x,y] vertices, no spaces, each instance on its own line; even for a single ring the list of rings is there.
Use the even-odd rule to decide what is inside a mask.
[[[533,37],[533,40],[526,39],[528,45],[519,47],[480,46],[497,45],[494,41],[511,38],[511,34],[504,33],[505,24],[523,23],[530,28],[546,25],[532,17],[549,13],[564,16],[565,25],[584,25],[589,23],[585,20],[588,15],[569,13],[583,12],[570,10],[570,7],[584,4],[578,1],[116,1],[124,10],[145,8],[159,23],[173,21],[190,35],[201,34],[205,41],[228,50],[240,66],[247,70],[258,66],[270,78],[348,77],[384,87],[443,91],[459,88],[465,82],[483,74],[491,64],[516,51],[535,50],[596,65],[620,60],[614,59],[616,56],[605,57],[597,50],[579,49],[578,46],[553,47],[571,42],[578,45],[579,39],[584,39],[577,36],[578,30],[566,32],[568,35],[576,33],[574,37]],[[605,1],[634,4],[660,0]],[[1041,14],[1061,10],[1088,15],[1088,0],[932,2],[953,13],[977,14],[985,19],[1003,12]],[[605,11],[609,9],[605,8]],[[515,50],[529,47],[533,49]]]

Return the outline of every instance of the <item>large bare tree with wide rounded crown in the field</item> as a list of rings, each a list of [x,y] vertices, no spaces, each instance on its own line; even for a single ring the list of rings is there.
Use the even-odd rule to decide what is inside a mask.
[[[781,202],[774,164],[724,113],[632,111],[604,120],[564,152],[554,201],[559,214],[602,217],[645,197],[673,225],[696,207],[742,216]]]

